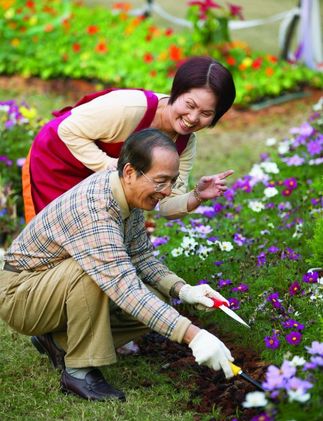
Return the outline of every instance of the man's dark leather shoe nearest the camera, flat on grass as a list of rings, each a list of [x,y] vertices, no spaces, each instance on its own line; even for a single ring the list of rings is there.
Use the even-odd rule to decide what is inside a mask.
[[[65,394],[73,393],[92,401],[103,401],[106,399],[126,400],[125,394],[111,386],[97,368],[91,370],[84,380],[72,377],[64,370],[61,377],[61,391]]]

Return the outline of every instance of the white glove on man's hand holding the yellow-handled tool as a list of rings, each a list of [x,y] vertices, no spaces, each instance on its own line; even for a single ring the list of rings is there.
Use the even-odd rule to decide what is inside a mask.
[[[224,343],[216,336],[202,329],[194,336],[188,346],[199,365],[206,365],[213,370],[222,368],[227,379],[233,377],[229,361],[233,361],[234,358]]]

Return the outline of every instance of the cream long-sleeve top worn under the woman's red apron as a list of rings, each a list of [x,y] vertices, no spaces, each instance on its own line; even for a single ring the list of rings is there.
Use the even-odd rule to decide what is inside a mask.
[[[156,94],[161,99],[166,95]],[[92,171],[116,167],[116,159],[98,148],[95,141],[123,142],[134,132],[147,110],[144,92],[120,89],[71,110],[58,127],[58,135],[72,155]],[[171,196],[160,202],[160,214],[179,218],[188,213],[188,178],[196,155],[196,137],[191,135],[180,155],[179,178]]]

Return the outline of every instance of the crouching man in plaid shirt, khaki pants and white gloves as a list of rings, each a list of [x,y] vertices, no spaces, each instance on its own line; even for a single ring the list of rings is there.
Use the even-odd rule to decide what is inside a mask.
[[[13,241],[0,271],[0,317],[62,370],[61,390],[125,400],[97,368],[116,348],[154,330],[192,349],[199,364],[232,376],[230,351],[166,303],[211,307],[223,299],[192,287],[153,256],[143,210],[170,195],[179,174],[172,140],[147,129],[125,142],[118,171],[101,171],[64,193]]]

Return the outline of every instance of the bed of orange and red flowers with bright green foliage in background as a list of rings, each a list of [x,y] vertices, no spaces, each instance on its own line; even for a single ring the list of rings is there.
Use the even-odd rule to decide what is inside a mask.
[[[175,34],[150,19],[130,16],[130,7],[117,3],[109,11],[66,0],[50,5],[45,0],[1,2],[0,73],[86,78],[167,92],[183,59],[209,54],[233,72],[239,106],[304,86],[323,86],[323,73],[250,51],[237,41],[205,45],[192,31]]]

